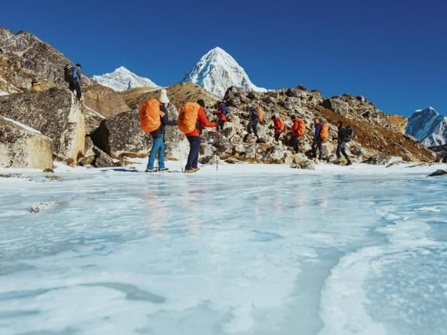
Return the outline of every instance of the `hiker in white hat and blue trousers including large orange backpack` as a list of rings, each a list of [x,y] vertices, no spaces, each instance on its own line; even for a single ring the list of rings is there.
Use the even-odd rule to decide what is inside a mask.
[[[165,167],[165,127],[175,126],[177,121],[169,120],[166,106],[169,103],[166,89],[161,89],[159,100],[152,99],[143,103],[140,108],[140,122],[143,131],[147,130],[152,136],[152,149],[147,161],[146,172],[167,171]],[[155,129],[154,129],[155,128]],[[154,129],[154,130],[152,130]],[[159,168],[154,168],[155,158],[159,156]]]

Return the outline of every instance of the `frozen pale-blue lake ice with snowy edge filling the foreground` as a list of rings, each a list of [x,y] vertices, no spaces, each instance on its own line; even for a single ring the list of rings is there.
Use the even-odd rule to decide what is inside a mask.
[[[446,334],[446,165],[144,163],[0,170],[0,334]]]

